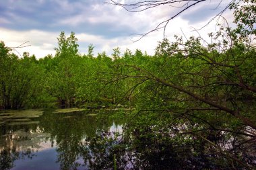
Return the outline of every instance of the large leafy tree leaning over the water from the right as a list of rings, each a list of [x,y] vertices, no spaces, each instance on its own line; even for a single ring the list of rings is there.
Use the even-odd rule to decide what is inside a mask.
[[[139,1],[121,4],[112,1],[114,5],[121,5],[129,11],[143,11],[174,2],[177,3]],[[201,2],[189,1],[177,15]],[[137,96],[140,104],[133,116],[136,117],[133,120],[135,123],[129,124],[125,132],[126,144],[139,140],[134,147],[131,146],[131,153],[137,152],[137,145],[141,141],[154,138],[152,142],[157,144],[143,142],[141,145],[155,147],[156,153],[168,146],[174,146],[179,151],[185,146],[190,147],[185,153],[201,155],[202,159],[206,157],[208,161],[214,158],[213,165],[205,164],[203,168],[232,166],[253,169],[255,144],[252,143],[255,143],[256,135],[256,48],[252,43],[256,35],[253,2],[230,1],[225,9],[235,9],[234,17],[238,27],[220,27],[218,32],[210,33],[213,41],[208,42],[207,46],[203,46],[201,37],[191,37],[187,41],[176,37],[176,42],[172,43],[164,39],[156,48],[155,57],[148,58],[143,63],[118,65],[119,71],[115,73],[115,79],[137,79],[138,81],[130,82],[135,83],[134,87],[140,92]],[[144,8],[139,9],[141,7]],[[164,26],[160,24],[152,31],[165,29],[166,24],[174,17],[162,22]],[[133,93],[134,89],[130,91]],[[162,143],[159,136],[166,139],[167,143]],[[181,142],[177,143],[177,140]],[[150,152],[141,152],[131,157],[150,155]],[[191,157],[185,153],[185,158]],[[190,158],[185,160],[193,162]],[[195,164],[197,163],[198,160]],[[202,166],[201,163],[195,164],[191,166]]]

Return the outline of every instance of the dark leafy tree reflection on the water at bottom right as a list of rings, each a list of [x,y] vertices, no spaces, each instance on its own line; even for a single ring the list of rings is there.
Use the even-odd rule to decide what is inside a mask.
[[[150,115],[130,122],[124,132],[102,132],[88,140],[90,169],[253,169],[255,138],[242,132]],[[152,119],[152,120],[151,120]],[[246,128],[246,127],[244,127]],[[201,130],[203,129],[203,130]],[[115,156],[114,156],[115,155]],[[86,157],[84,157],[86,158]]]

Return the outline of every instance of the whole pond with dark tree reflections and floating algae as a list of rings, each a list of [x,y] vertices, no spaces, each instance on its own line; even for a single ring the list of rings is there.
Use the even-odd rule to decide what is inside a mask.
[[[183,133],[196,126],[202,128],[173,122],[168,113],[138,116],[125,109],[1,111],[0,169],[255,167],[254,139],[249,147],[241,144],[245,136],[230,132]],[[218,150],[210,140],[218,144]],[[239,147],[234,149],[232,144]],[[231,159],[236,155],[241,161]]]

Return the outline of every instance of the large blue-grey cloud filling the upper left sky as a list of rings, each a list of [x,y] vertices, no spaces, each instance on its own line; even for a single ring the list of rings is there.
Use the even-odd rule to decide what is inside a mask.
[[[44,32],[86,32],[115,38],[129,35],[140,28],[131,24],[131,15],[104,1],[11,1],[0,2],[1,27],[11,30]],[[113,10],[114,9],[114,10]],[[133,20],[134,17],[133,17]],[[136,24],[136,23],[134,23]],[[146,26],[146,24],[141,24]]]

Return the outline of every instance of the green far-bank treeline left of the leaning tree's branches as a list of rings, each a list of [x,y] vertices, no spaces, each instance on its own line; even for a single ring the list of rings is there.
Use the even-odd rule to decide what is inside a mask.
[[[69,37],[61,32],[57,39],[55,56],[40,59],[28,52],[19,57],[1,42],[0,108],[69,108],[129,101],[129,95],[123,95],[130,88],[128,81],[113,81],[113,73],[119,63],[134,58],[142,62],[150,56],[140,50],[135,54],[126,50],[121,56],[119,48],[111,56],[105,52],[94,56],[92,45],[88,46],[88,54],[82,55],[73,32]]]

